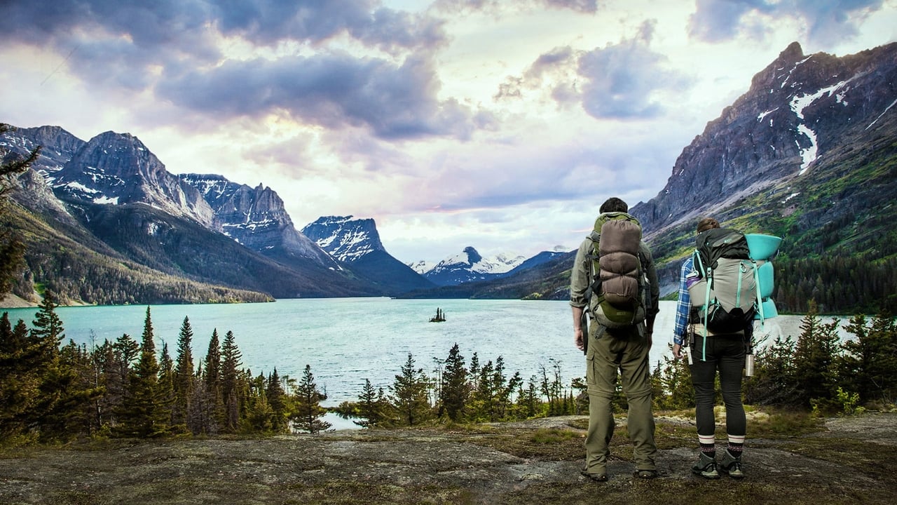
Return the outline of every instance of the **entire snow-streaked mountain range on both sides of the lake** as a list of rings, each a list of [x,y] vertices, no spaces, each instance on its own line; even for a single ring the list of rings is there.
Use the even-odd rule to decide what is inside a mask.
[[[23,297],[48,287],[73,303],[568,297],[572,252],[525,261],[484,259],[467,247],[432,267],[405,265],[385,251],[370,219],[321,217],[297,230],[274,190],[170,174],[129,134],[84,142],[59,127],[20,128],[0,146],[20,154],[43,146],[4,213],[28,245],[15,289]],[[891,264],[895,196],[897,44],[835,57],[805,55],[793,43],[631,213],[654,252],[662,293],[675,292],[697,217],[713,216],[785,237],[777,283],[800,286],[797,300],[826,287],[788,277],[800,274],[796,261]]]

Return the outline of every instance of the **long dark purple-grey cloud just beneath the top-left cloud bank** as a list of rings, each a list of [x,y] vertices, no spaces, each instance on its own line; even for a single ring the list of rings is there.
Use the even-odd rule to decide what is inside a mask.
[[[344,53],[228,61],[164,79],[161,97],[207,115],[258,117],[287,111],[325,128],[365,126],[383,138],[469,137],[473,112],[439,101],[430,58],[401,64]]]

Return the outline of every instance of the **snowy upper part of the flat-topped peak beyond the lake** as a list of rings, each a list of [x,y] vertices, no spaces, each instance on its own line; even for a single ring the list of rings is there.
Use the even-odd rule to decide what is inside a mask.
[[[375,251],[385,251],[377,225],[370,218],[318,217],[302,228],[302,234],[339,261],[351,263]]]

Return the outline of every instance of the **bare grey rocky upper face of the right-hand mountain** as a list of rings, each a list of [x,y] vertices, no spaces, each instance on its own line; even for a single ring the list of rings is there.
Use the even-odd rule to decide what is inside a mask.
[[[649,236],[790,178],[814,177],[834,151],[893,136],[897,43],[837,58],[797,42],[676,159],[666,187],[632,208]]]

